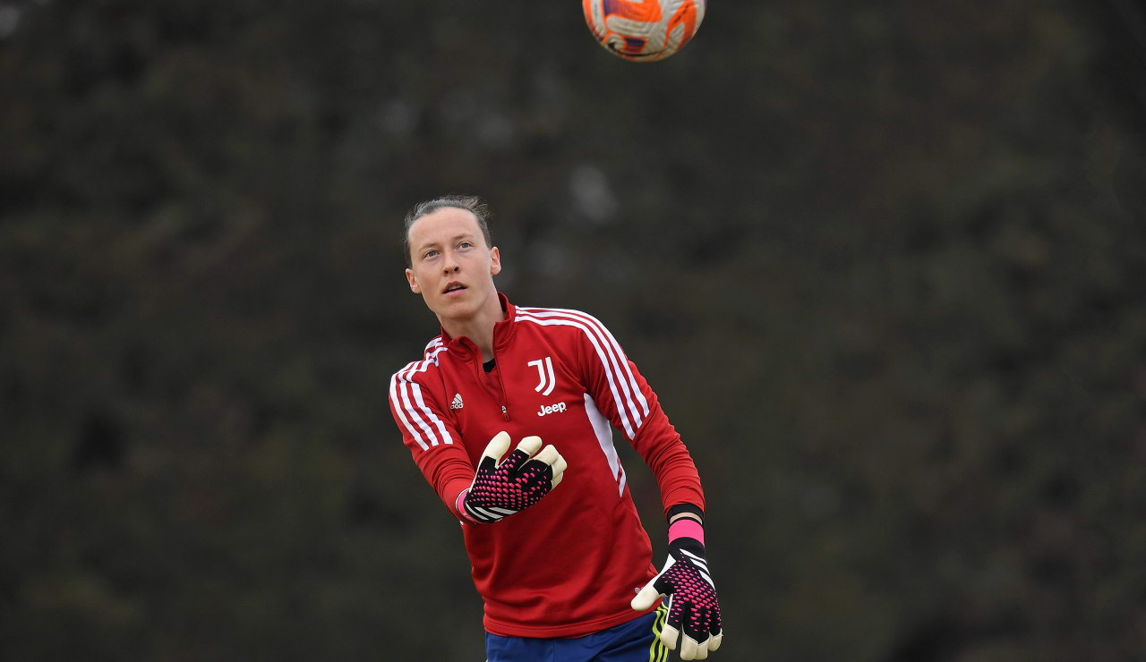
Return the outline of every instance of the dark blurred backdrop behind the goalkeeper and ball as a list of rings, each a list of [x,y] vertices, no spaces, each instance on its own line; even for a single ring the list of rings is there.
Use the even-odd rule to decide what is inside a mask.
[[[719,1],[657,64],[574,0],[0,0],[0,657],[484,659],[386,404],[455,191],[692,449],[716,659],[1146,659],[1144,72],[1129,0]]]

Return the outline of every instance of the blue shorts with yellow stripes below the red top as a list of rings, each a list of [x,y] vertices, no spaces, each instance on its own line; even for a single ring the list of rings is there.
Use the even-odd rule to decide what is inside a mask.
[[[486,632],[489,662],[664,662],[668,648],[660,643],[665,606],[638,618],[575,639],[501,637]]]

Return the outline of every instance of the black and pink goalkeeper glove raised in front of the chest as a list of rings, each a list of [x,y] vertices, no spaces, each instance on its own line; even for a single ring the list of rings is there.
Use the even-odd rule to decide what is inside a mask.
[[[481,454],[478,472],[470,487],[457,495],[457,512],[472,523],[490,523],[523,511],[541,501],[562,482],[565,458],[552,444],[541,449],[540,436],[527,436],[509,450],[509,434],[499,432]]]

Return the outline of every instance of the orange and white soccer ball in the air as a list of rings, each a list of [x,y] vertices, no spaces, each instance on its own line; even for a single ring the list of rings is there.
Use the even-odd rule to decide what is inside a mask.
[[[634,62],[664,60],[692,39],[707,0],[581,0],[584,22],[606,50]]]

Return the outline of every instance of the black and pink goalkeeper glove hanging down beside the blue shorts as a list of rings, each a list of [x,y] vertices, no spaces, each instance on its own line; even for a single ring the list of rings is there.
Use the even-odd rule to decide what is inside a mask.
[[[705,660],[709,651],[720,648],[724,632],[720,625],[720,601],[716,585],[705,560],[705,530],[700,522],[681,518],[668,527],[668,560],[660,574],[650,580],[636,598],[633,608],[644,612],[657,598],[668,598],[668,616],[660,640],[676,649],[681,631],[682,660]]]

